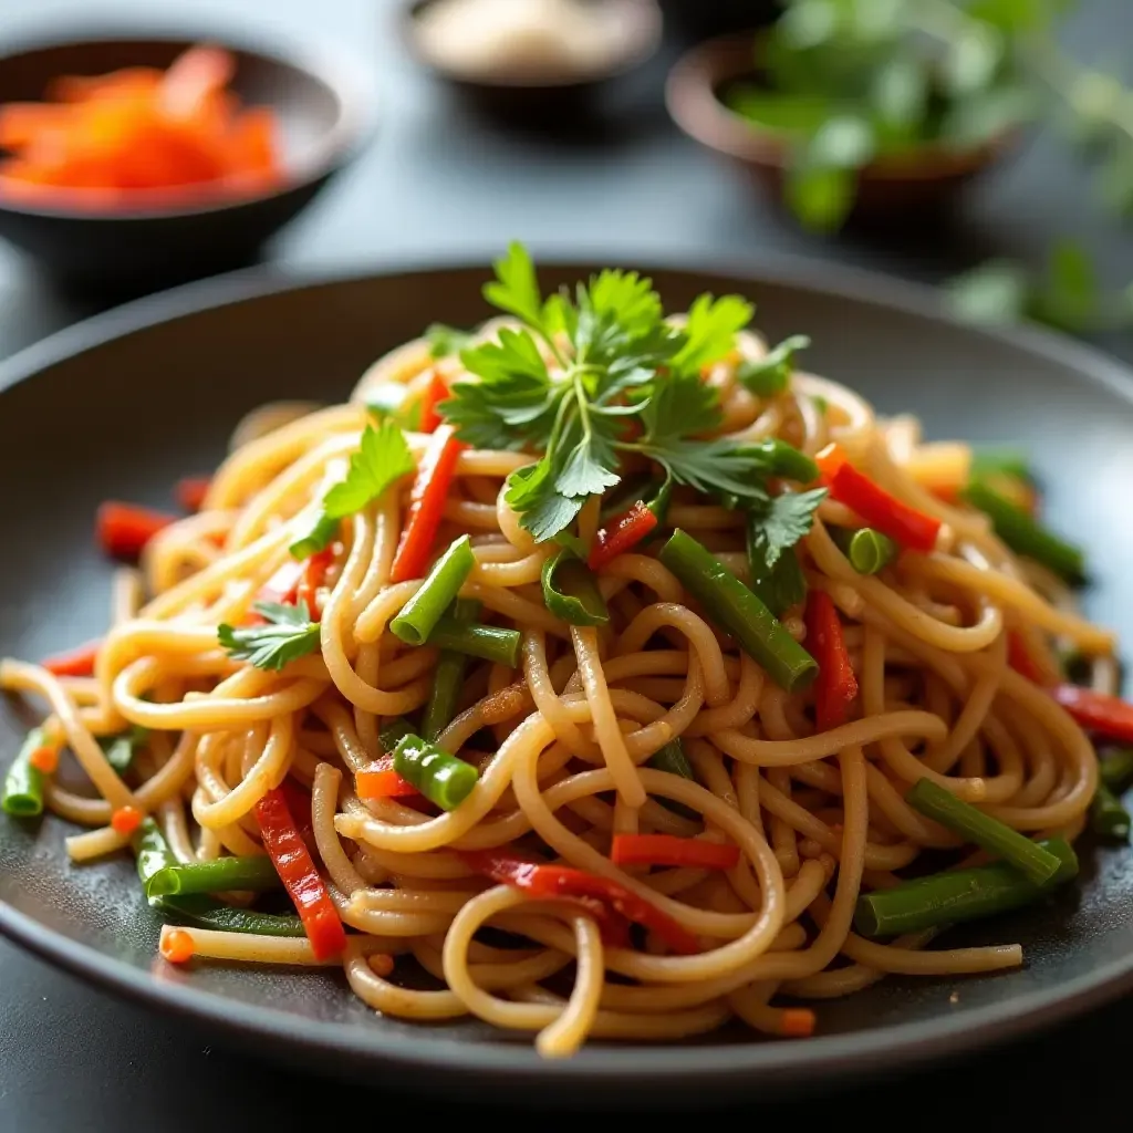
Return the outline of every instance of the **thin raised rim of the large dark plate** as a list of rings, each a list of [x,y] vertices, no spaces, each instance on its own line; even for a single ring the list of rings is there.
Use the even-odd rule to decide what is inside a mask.
[[[313,287],[349,287],[402,275],[486,273],[495,250],[466,252],[459,258],[415,255],[348,271],[258,265],[156,292],[74,323],[0,361],[0,397],[70,358],[164,323]],[[734,279],[756,292],[763,286],[774,286],[816,297],[845,298],[895,309],[953,331],[989,339],[1024,355],[1053,360],[1073,370],[1076,380],[1101,385],[1133,406],[1133,368],[1099,349],[1041,327],[966,324],[947,309],[937,289],[926,284],[778,253],[761,254],[755,259],[722,257],[709,264],[690,252],[645,252],[639,256],[627,255],[623,249],[591,253],[595,253],[591,247],[572,247],[569,254],[562,254],[561,249],[544,253],[536,246],[533,257],[539,267],[589,271],[602,263],[631,263],[639,265],[645,274],[664,271],[710,275]],[[443,1038],[427,1028],[423,1028],[419,1036],[389,1037],[377,1029],[346,1029],[270,1005],[229,999],[191,983],[155,980],[151,972],[71,940],[2,900],[0,932],[40,959],[135,1003],[172,1010],[246,1039],[267,1040],[276,1048],[315,1050],[353,1064],[365,1062],[372,1070],[386,1075],[397,1071],[443,1068],[463,1077],[466,1084],[474,1079],[483,1084],[487,1074],[489,1080],[511,1080],[528,1088],[569,1089],[587,1082],[607,1088],[620,1085],[627,1092],[648,1089],[658,1098],[692,1087],[717,1087],[723,1091],[719,1101],[759,1090],[783,1092],[803,1081],[813,1082],[816,1074],[842,1081],[881,1067],[912,1068],[932,1059],[944,1060],[961,1051],[1066,1022],[1133,989],[1131,954],[1067,982],[1024,991],[1002,1003],[964,1008],[954,1016],[818,1036],[804,1043],[759,1040],[715,1046],[603,1043],[583,1048],[571,1059],[545,1060],[522,1042]],[[700,1101],[707,1104],[707,1099]]]

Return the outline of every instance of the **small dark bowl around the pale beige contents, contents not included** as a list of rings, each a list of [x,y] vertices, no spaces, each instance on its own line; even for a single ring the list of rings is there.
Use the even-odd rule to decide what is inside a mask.
[[[401,34],[414,58],[444,79],[478,110],[521,125],[555,126],[588,113],[616,79],[637,70],[661,46],[664,19],[656,0],[591,0],[619,14],[621,51],[599,71],[569,76],[471,75],[445,67],[421,46],[417,23],[437,0],[412,0],[403,10]]]

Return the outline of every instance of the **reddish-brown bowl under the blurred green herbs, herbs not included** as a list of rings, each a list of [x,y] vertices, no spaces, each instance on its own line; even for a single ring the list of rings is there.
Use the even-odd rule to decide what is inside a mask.
[[[730,83],[758,78],[759,33],[708,40],[688,52],[670,73],[665,87],[668,112],[701,145],[744,169],[763,191],[782,199],[790,148],[783,135],[734,113],[719,97]],[[939,214],[957,190],[987,169],[1016,135],[1005,134],[968,150],[927,145],[908,155],[881,157],[858,176],[852,219],[870,224],[919,220]]]

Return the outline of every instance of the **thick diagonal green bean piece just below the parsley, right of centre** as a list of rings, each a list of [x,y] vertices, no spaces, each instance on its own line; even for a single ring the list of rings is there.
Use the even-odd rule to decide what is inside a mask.
[[[818,663],[778,619],[724,564],[680,528],[661,550],[661,561],[740,647],[787,692],[806,688]]]

